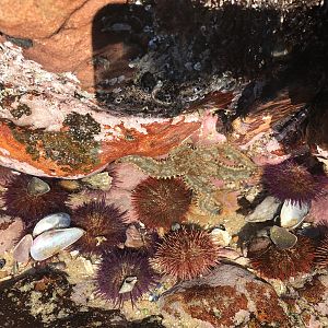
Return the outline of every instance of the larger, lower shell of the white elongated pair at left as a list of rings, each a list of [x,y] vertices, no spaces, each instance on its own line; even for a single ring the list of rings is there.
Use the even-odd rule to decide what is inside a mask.
[[[46,231],[34,239],[30,254],[36,261],[43,261],[75,243],[83,234],[84,230],[80,227]]]

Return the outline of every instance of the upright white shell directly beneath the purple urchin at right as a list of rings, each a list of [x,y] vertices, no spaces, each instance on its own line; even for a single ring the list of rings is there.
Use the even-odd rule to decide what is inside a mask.
[[[298,204],[285,200],[280,212],[280,225],[285,229],[295,229],[303,222],[308,211],[309,206],[306,203]]]

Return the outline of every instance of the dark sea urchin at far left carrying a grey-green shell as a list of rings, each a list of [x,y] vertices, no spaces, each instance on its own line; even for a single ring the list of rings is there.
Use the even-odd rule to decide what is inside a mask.
[[[50,187],[49,191],[44,194],[28,191],[32,179],[38,178],[23,174],[15,175],[1,196],[7,208],[5,213],[22,218],[27,227],[47,214],[66,211],[65,201],[68,199],[68,192],[51,179],[45,179]]]

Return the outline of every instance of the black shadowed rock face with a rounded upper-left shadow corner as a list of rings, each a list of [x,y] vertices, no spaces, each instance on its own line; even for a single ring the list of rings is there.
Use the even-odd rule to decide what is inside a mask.
[[[242,95],[235,105],[245,114],[260,95],[307,75],[309,63],[319,62],[311,74],[317,78],[326,66],[323,8],[283,9],[191,0],[107,5],[93,21],[97,98],[116,112],[175,116],[202,105],[222,108],[223,91],[231,99]],[[294,102],[313,98],[317,78],[296,83]]]

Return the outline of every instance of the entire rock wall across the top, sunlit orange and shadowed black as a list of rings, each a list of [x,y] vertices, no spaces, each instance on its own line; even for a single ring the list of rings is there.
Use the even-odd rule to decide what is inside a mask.
[[[280,81],[290,67],[311,67],[320,80],[326,66],[320,1],[113,2],[4,1],[0,31],[47,70],[74,71],[105,106],[128,114],[175,116],[204,103],[220,108],[226,98],[207,95],[242,93],[249,79]],[[254,86],[242,107],[257,97],[261,86]]]

